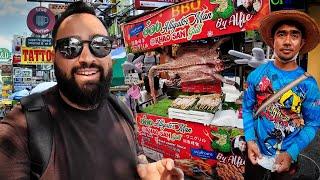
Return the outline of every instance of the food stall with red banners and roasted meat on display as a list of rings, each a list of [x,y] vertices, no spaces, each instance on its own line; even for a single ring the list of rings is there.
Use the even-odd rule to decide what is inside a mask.
[[[160,62],[167,58],[148,72],[154,104],[137,114],[138,142],[149,158],[173,158],[197,179],[243,179],[239,78],[222,75],[230,64],[220,59],[220,47],[233,33],[257,29],[270,7],[269,1],[259,0],[247,11],[232,2],[187,1],[122,27],[129,51],[161,48]],[[153,77],[160,73],[167,73],[168,84],[179,86],[174,96],[159,98]]]

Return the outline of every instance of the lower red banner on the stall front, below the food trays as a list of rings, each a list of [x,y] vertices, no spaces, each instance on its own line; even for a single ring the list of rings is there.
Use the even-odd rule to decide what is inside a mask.
[[[137,115],[138,142],[151,159],[172,158],[188,176],[243,179],[243,130],[145,113]]]

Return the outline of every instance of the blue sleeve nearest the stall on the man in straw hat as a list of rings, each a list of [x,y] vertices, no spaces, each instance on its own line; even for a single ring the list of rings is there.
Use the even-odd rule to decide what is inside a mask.
[[[256,104],[256,93],[253,77],[253,73],[250,73],[247,78],[248,88],[244,92],[242,103],[243,127],[246,141],[256,140],[253,118],[253,107]]]

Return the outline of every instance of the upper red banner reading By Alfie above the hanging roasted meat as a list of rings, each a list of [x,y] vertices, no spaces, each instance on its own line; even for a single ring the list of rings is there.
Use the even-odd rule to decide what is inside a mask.
[[[270,13],[267,0],[251,7],[231,0],[194,0],[175,4],[123,25],[125,44],[133,52],[259,27]]]

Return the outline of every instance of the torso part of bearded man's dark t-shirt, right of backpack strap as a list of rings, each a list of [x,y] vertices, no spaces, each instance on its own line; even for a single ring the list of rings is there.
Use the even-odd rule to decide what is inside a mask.
[[[63,175],[97,180],[136,177],[135,152],[119,124],[126,122],[107,100],[84,111],[67,105],[60,96],[57,99],[54,141]]]

